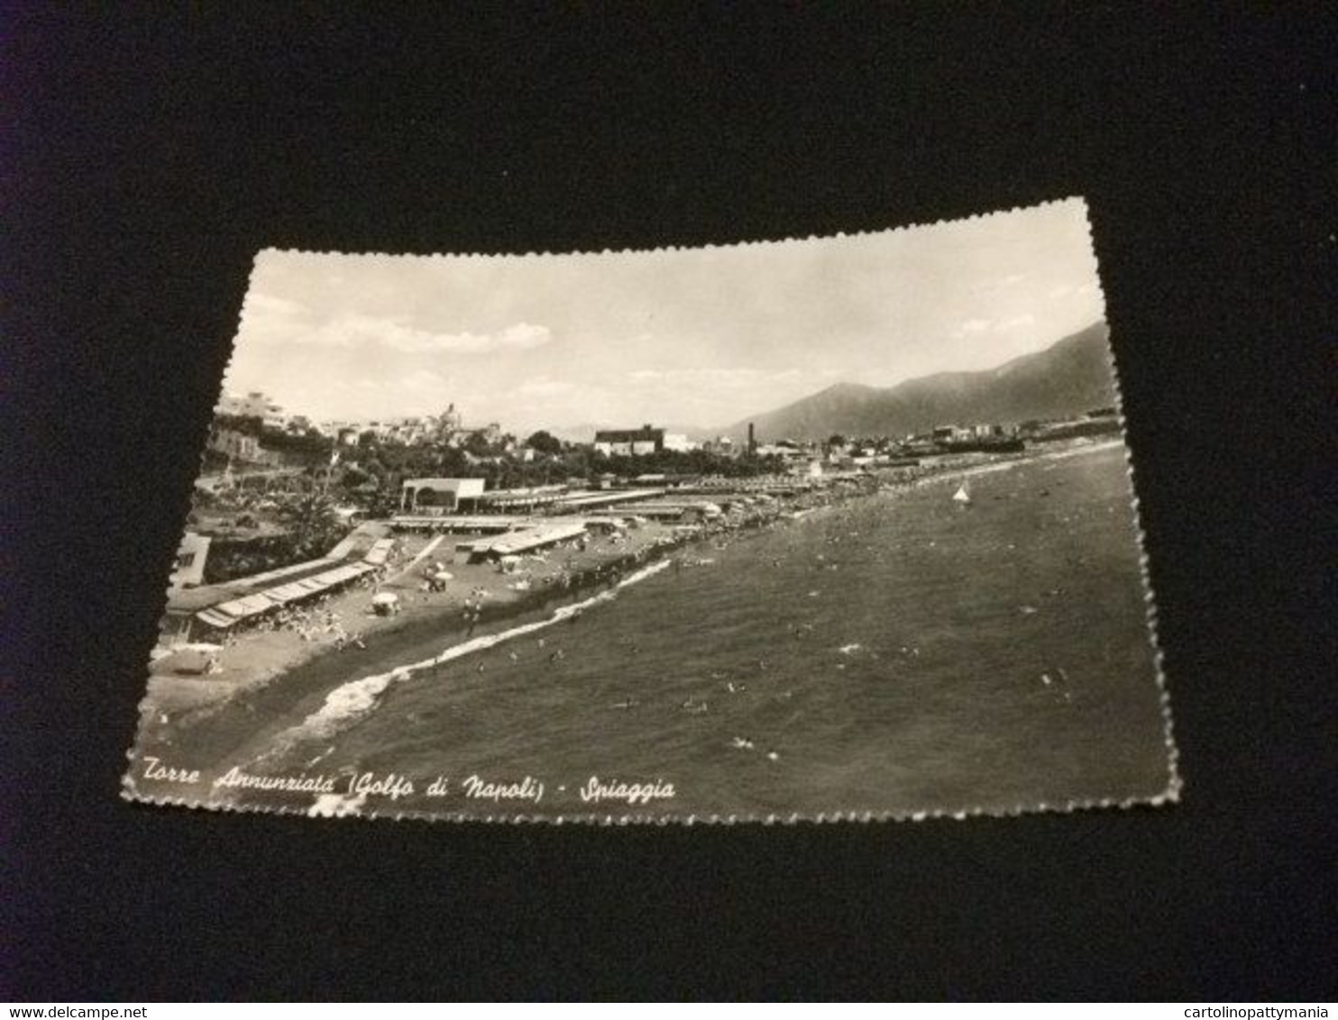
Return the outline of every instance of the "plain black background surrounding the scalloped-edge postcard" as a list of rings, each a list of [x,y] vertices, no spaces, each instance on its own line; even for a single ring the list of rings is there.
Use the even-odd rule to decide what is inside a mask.
[[[1321,5],[5,19],[0,997],[1334,995]],[[118,799],[258,249],[697,245],[1076,194],[1183,805],[545,827]]]

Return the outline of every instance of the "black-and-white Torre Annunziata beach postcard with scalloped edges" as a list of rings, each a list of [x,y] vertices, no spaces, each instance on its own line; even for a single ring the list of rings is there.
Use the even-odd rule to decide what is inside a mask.
[[[135,799],[793,821],[1179,791],[1081,199],[254,263]]]

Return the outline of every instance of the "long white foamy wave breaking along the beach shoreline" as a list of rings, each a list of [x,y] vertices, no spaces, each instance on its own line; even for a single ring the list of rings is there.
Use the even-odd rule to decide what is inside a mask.
[[[503,644],[515,638],[523,638],[527,634],[534,634],[535,631],[542,631],[553,627],[554,624],[571,620],[594,606],[605,602],[613,602],[613,599],[617,598],[618,591],[622,588],[638,584],[648,578],[653,578],[666,567],[669,567],[669,560],[657,560],[633,573],[629,573],[618,582],[614,588],[591,595],[581,602],[570,603],[569,606],[559,606],[550,616],[542,620],[522,623],[511,627],[510,630],[499,631],[498,634],[483,634],[478,638],[470,638],[459,644],[452,644],[448,648],[444,648],[439,655],[435,655],[431,659],[420,659],[419,662],[396,666],[393,670],[388,670],[387,672],[363,676],[361,679],[341,684],[325,695],[325,702],[320,709],[296,726],[290,726],[280,733],[274,738],[269,750],[266,750],[258,761],[264,762],[282,757],[298,745],[309,741],[329,741],[336,734],[349,729],[367,715],[376,711],[384,700],[385,692],[392,686],[408,680],[416,672],[423,672],[424,670],[431,670],[444,663],[463,659],[474,652],[486,651],[487,648],[494,648],[498,644]]]

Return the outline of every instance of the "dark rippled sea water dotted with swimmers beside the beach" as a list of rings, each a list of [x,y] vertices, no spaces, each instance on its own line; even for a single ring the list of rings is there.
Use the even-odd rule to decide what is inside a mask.
[[[636,810],[680,817],[1161,794],[1123,447],[981,472],[965,507],[959,481],[702,543],[466,646],[387,635],[240,761],[542,778],[526,814],[593,810],[578,797],[591,777],[672,783]]]

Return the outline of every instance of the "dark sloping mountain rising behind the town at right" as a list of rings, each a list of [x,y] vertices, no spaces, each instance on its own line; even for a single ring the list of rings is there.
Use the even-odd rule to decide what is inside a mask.
[[[904,436],[937,425],[1017,422],[1081,414],[1115,404],[1108,329],[1093,324],[1036,354],[983,372],[942,372],[896,386],[838,382],[720,432],[759,442],[844,436]]]

